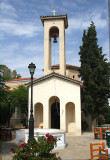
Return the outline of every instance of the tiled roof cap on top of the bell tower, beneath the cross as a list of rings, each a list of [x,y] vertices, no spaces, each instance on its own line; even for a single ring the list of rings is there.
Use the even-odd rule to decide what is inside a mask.
[[[50,19],[64,19],[65,22],[65,28],[68,28],[68,17],[67,14],[64,15],[52,15],[52,16],[40,16],[40,19],[42,21],[42,24],[44,25],[44,20],[50,20]]]

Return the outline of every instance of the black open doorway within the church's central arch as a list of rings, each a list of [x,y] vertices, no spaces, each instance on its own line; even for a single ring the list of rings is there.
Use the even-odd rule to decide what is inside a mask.
[[[51,128],[60,129],[60,103],[57,101],[51,106]]]

